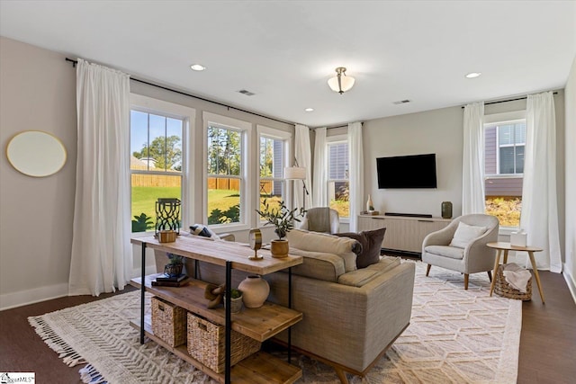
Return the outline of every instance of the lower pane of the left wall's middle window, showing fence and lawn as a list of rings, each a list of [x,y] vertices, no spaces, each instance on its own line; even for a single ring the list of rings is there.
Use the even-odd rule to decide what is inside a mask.
[[[240,222],[240,179],[208,177],[208,224]]]

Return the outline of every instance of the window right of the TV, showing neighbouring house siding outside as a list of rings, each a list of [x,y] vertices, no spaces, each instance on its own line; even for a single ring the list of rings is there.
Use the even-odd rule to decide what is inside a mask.
[[[486,213],[496,216],[501,227],[520,224],[526,119],[504,119],[518,115],[489,116],[484,124]]]

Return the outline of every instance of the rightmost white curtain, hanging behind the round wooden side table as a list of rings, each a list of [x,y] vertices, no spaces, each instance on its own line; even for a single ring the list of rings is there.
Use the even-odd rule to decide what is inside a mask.
[[[536,268],[562,272],[556,199],[556,121],[552,92],[527,97],[527,132],[520,228],[536,252]],[[527,263],[527,267],[531,266]]]

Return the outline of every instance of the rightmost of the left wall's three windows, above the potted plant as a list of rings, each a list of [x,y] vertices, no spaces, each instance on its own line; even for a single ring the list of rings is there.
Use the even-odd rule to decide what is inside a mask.
[[[290,134],[278,129],[258,126],[259,140],[259,183],[260,209],[264,201],[280,208],[280,201],[286,201],[284,167],[288,165],[287,154]],[[260,221],[264,219],[260,218]]]

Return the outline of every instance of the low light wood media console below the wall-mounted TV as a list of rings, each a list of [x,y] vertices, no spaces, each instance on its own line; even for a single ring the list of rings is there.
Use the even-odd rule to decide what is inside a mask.
[[[452,219],[442,218],[359,215],[358,230],[386,228],[383,249],[420,254],[424,237],[445,228],[451,221]]]

